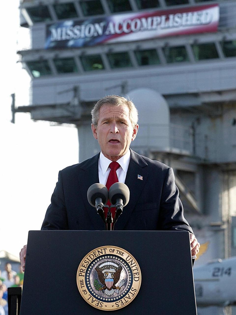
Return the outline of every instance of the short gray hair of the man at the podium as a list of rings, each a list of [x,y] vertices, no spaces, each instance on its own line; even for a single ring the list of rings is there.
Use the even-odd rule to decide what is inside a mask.
[[[132,123],[133,128],[138,123],[138,111],[137,108],[134,106],[134,103],[132,100],[129,99],[129,97],[126,99],[122,96],[118,95],[109,95],[101,98],[93,107],[91,111],[92,115],[92,123],[96,127],[99,119],[99,110],[103,105],[108,106],[120,106],[120,105],[126,105],[129,109],[129,119]]]

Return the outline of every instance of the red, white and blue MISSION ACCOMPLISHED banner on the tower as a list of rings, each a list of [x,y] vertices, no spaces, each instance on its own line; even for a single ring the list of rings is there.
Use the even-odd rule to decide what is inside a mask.
[[[218,22],[218,4],[68,20],[47,26],[45,49],[215,32]]]

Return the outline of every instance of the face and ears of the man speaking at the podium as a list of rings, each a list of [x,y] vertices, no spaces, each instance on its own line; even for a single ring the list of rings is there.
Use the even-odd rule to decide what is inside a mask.
[[[117,161],[128,150],[131,141],[136,137],[138,125],[134,128],[129,119],[129,108],[126,105],[103,105],[99,110],[97,126],[92,131],[98,140],[101,151],[111,161]]]

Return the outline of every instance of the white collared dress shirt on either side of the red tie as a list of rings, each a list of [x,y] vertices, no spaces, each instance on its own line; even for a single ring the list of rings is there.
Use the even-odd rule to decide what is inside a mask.
[[[123,157],[119,158],[117,162],[120,164],[120,167],[116,170],[116,174],[118,176],[118,181],[120,183],[124,183],[125,177],[127,174],[128,166],[130,160],[130,151],[125,153]],[[107,177],[110,173],[109,164],[112,161],[105,157],[102,152],[100,152],[99,160],[98,160],[98,177],[99,183],[106,185]]]

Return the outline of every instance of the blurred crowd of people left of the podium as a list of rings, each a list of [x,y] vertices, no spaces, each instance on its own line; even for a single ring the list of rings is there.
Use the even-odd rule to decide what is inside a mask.
[[[0,270],[0,315],[8,314],[8,294],[7,289],[11,287],[23,286],[24,272],[19,265],[19,272],[12,270],[9,262],[5,265],[5,270]]]

